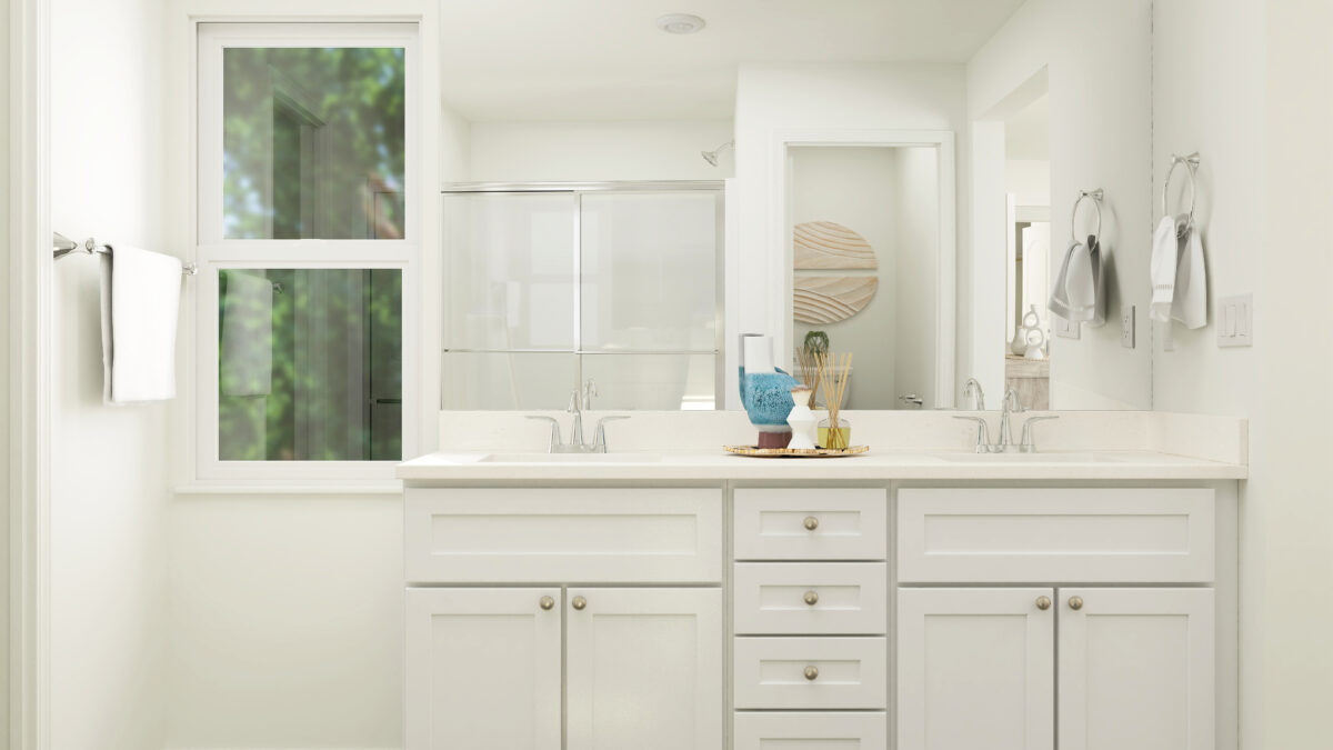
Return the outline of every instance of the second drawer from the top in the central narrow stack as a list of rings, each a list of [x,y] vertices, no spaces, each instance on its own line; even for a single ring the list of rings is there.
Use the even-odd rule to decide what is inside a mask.
[[[736,633],[882,635],[888,590],[885,563],[736,563]]]

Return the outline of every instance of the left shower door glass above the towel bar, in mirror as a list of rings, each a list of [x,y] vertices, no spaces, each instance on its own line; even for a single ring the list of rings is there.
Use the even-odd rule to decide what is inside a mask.
[[[445,348],[572,350],[575,198],[445,195]]]

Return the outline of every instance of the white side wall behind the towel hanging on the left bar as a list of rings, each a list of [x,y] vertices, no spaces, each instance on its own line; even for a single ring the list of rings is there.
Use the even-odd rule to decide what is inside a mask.
[[[52,224],[163,247],[161,0],[55,0]],[[55,272],[51,746],[160,747],[167,407],[101,403],[99,263]]]

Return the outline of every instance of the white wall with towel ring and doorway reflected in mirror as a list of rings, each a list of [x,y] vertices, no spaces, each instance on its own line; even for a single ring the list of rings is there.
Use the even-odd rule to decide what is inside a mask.
[[[1052,238],[1069,236],[1078,190],[1104,188],[1102,252],[1110,270],[1108,323],[1081,340],[1056,339],[1052,406],[1152,408],[1148,258],[1152,236],[1150,0],[1028,0],[968,63],[974,256],[960,263],[960,300],[972,299],[972,351],[961,359],[988,391],[1004,376],[1004,127],[1014,92],[1045,77],[1050,96]],[[1040,96],[1040,95],[1037,95]],[[998,190],[997,190],[998,188]],[[1057,254],[1058,255],[1058,254]],[[1053,258],[1053,263],[1060,259]],[[970,284],[970,290],[968,288]],[[1120,346],[1120,310],[1138,310],[1138,347]],[[960,376],[966,374],[960,367]]]

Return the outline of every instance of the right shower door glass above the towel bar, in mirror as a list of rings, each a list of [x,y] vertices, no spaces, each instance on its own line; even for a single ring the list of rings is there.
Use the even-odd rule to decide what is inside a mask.
[[[584,348],[717,348],[713,192],[583,196]]]

